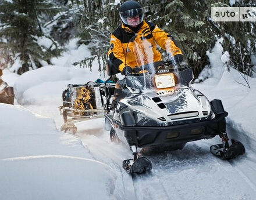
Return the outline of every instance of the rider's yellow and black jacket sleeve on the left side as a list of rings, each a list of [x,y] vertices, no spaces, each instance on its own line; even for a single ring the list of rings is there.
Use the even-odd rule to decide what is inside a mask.
[[[113,65],[122,72],[123,68],[125,68],[125,53],[121,41],[113,34],[111,34],[108,57]]]

